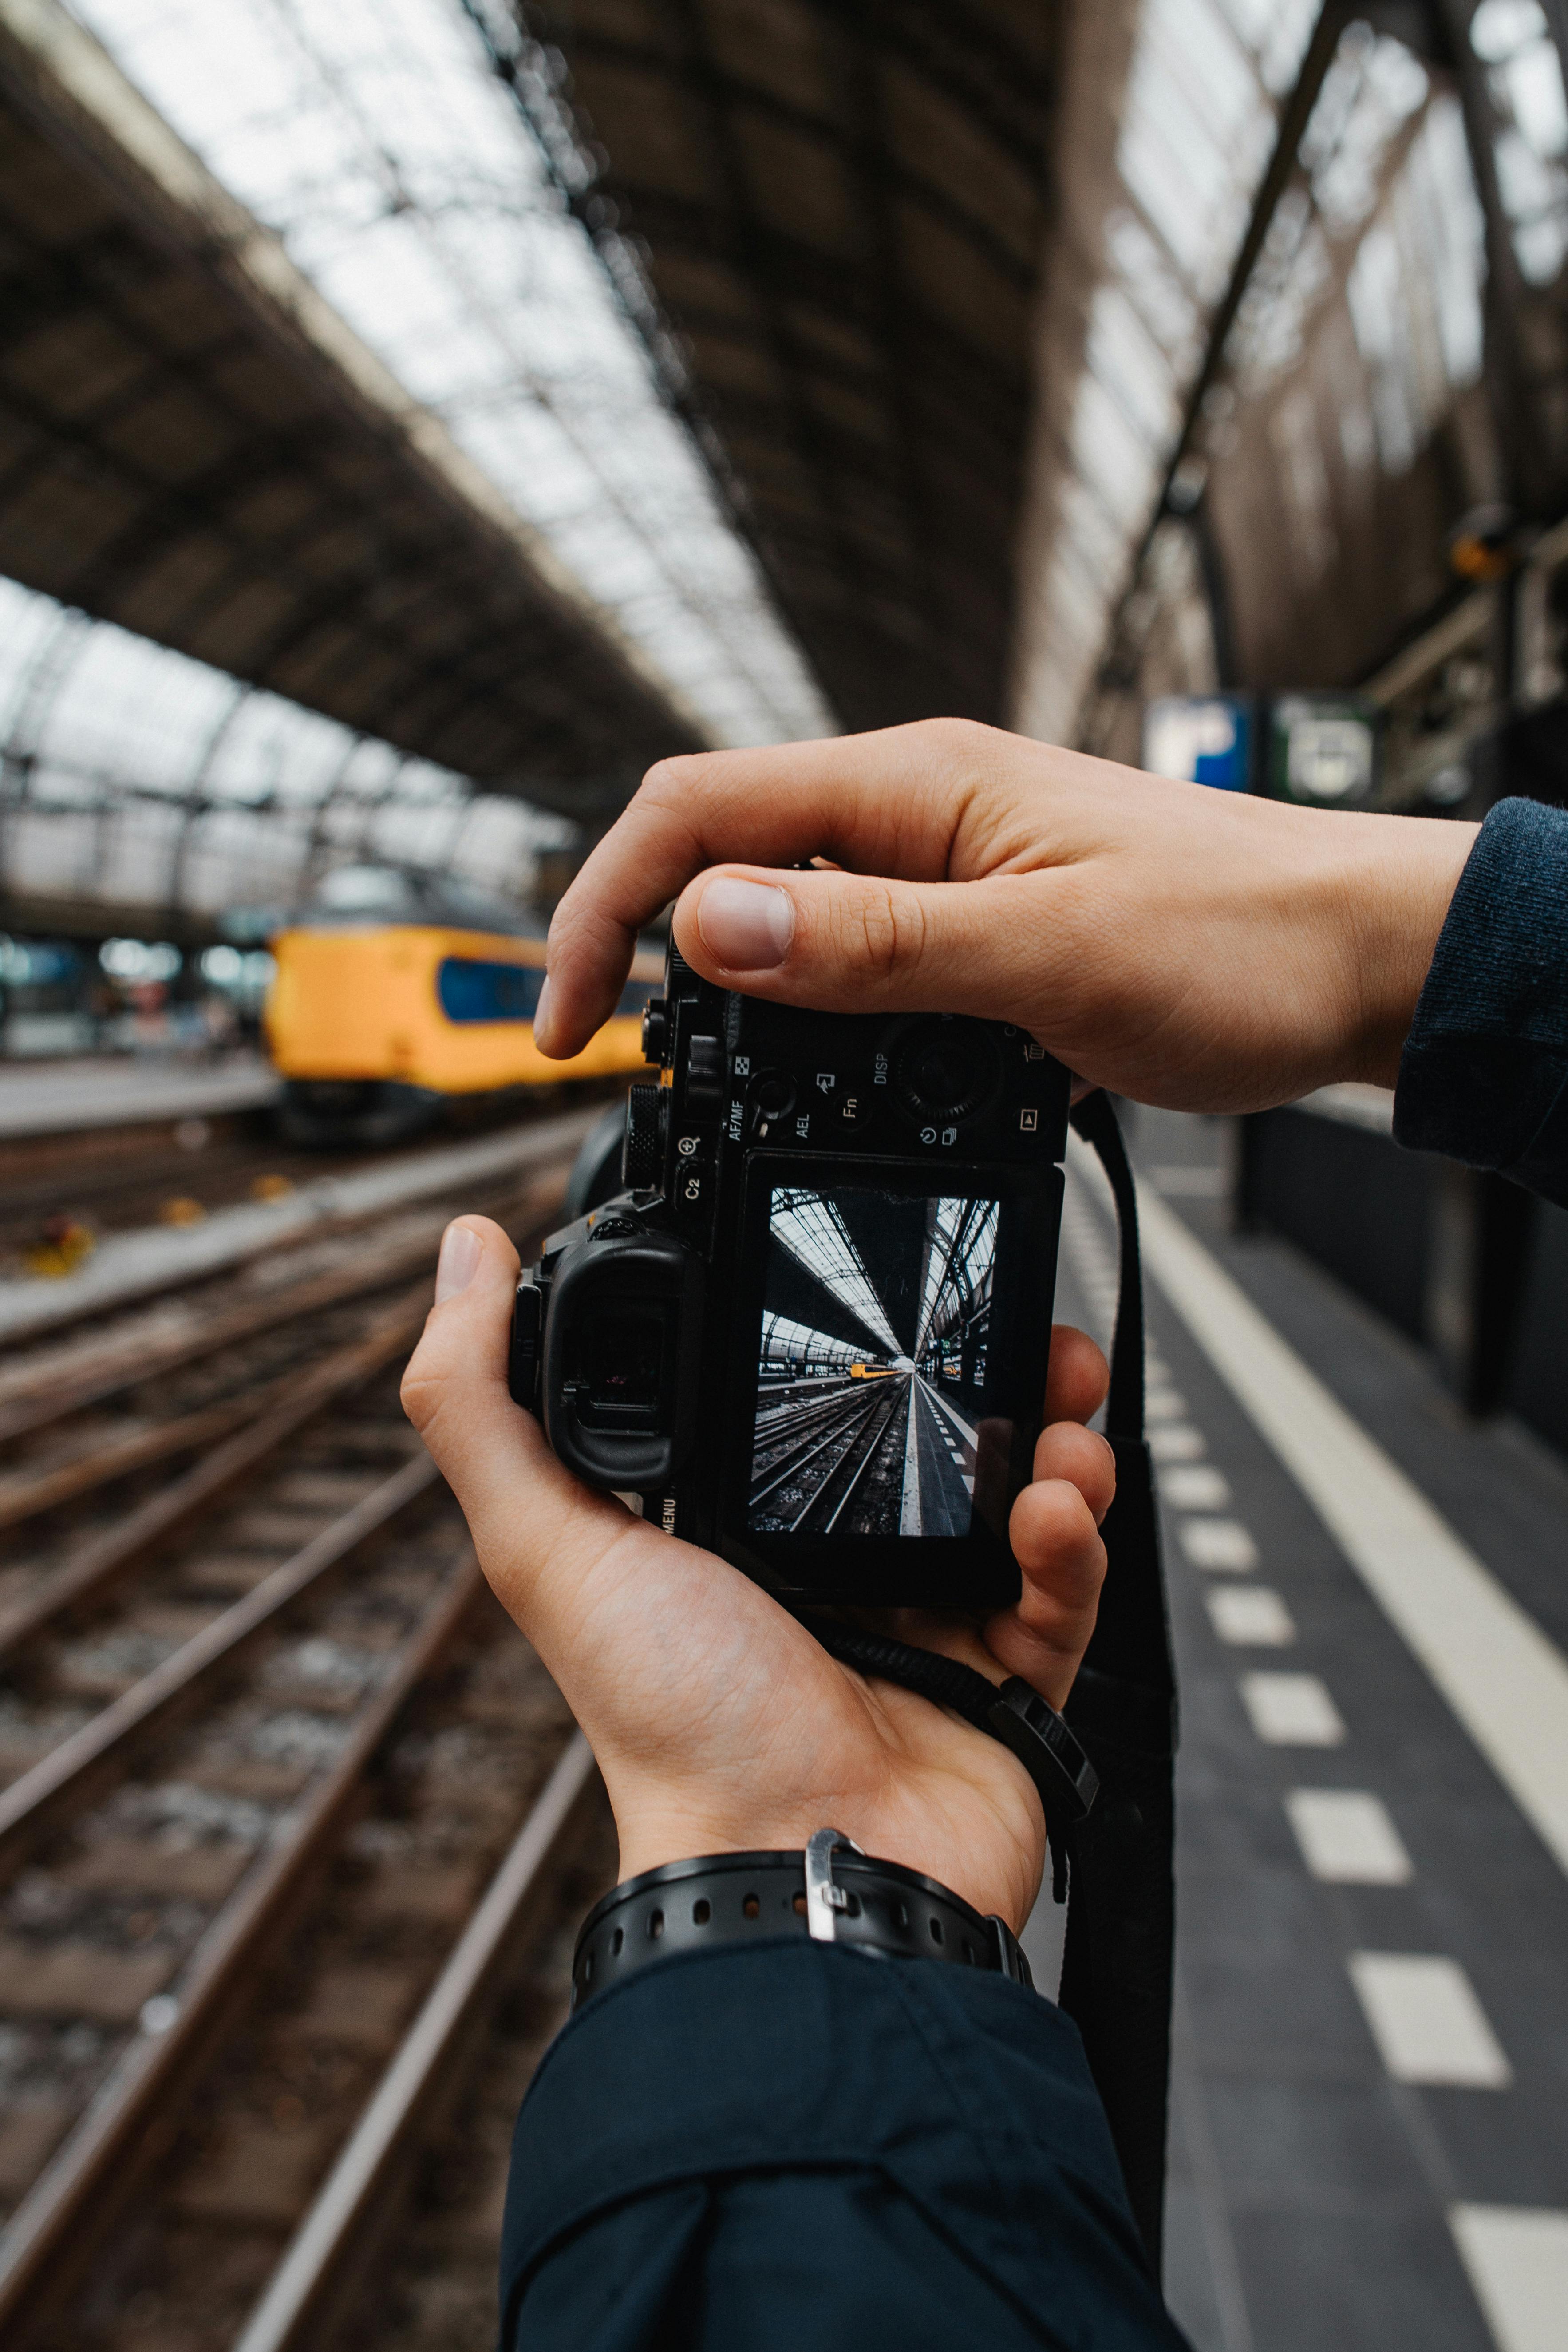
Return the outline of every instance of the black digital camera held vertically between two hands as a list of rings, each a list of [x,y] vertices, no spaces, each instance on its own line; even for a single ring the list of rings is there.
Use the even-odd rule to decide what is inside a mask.
[[[675,948],[642,1044],[623,1190],[517,1287],[517,1404],[783,1599],[1016,1599],[1067,1070],[999,1021],[726,995]]]

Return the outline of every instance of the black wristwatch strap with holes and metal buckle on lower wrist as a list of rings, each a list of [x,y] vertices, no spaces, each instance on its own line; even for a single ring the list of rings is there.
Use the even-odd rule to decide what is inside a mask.
[[[818,1830],[804,1853],[705,1853],[611,1886],[583,1919],[571,2006],[675,1952],[799,1936],[882,1959],[947,1959],[1034,1990],[1011,1926],[938,1879]]]

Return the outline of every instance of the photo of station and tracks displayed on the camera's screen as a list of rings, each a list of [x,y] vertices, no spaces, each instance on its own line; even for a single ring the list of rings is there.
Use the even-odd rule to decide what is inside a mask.
[[[748,1526],[969,1536],[994,1200],[776,1190]]]

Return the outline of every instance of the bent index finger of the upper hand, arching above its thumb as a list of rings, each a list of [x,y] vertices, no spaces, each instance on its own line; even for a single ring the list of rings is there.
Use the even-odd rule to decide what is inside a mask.
[[[562,1058],[588,1042],[639,929],[722,858],[788,868],[830,856],[919,882],[978,873],[994,818],[976,811],[976,783],[1016,764],[1013,739],[964,720],[661,760],[555,910],[538,1049]]]

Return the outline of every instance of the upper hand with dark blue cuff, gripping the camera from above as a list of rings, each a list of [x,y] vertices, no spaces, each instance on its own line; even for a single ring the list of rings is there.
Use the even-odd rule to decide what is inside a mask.
[[[576,1054],[679,894],[675,941],[724,988],[1016,1021],[1140,1103],[1392,1084],[1474,835],[1168,783],[966,720],[663,760],[555,913],[534,1040]],[[785,870],[811,856],[846,870]]]

